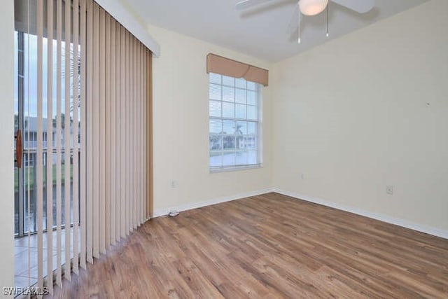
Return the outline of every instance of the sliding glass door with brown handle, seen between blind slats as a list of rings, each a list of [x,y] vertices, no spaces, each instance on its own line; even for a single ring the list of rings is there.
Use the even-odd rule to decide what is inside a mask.
[[[46,48],[45,43],[48,43],[48,39],[43,39],[44,49]],[[56,52],[56,41],[54,43],[54,48]],[[14,233],[16,237],[22,237],[27,235],[28,232],[36,232],[36,146],[37,146],[37,115],[36,115],[36,35],[27,34],[25,32],[15,32],[15,114],[14,114],[14,130],[15,130],[15,168],[14,168],[14,190],[15,190],[15,226]],[[73,48],[73,45],[70,45]],[[65,43],[62,43],[62,53],[65,52]],[[45,51],[44,51],[45,52]],[[43,65],[48,65],[48,60],[44,53],[44,63]],[[63,57],[64,58],[64,57]],[[48,59],[48,58],[47,58]],[[69,57],[71,60],[71,65],[73,65],[73,57]],[[74,60],[75,64],[78,64],[78,59]],[[79,76],[76,74],[76,67],[72,68],[75,70],[70,73],[70,82],[73,84],[73,76]],[[46,72],[46,68],[44,70]],[[56,75],[55,75],[56,76]],[[44,82],[45,84],[45,82]],[[64,88],[64,86],[63,86]],[[56,86],[52,95],[57,95]],[[62,138],[62,144],[64,144],[64,132],[65,132],[65,113],[61,111],[59,116],[61,118],[59,127],[57,126],[57,105],[53,105],[53,109],[48,113],[48,95],[44,92],[43,95],[43,228],[47,230],[47,193],[52,194],[52,226],[56,225],[56,209],[57,209],[57,193],[60,192],[62,198],[65,198],[65,184],[69,184],[70,190],[70,210],[71,219],[69,223],[73,223],[73,158],[79,159],[78,157],[73,157],[73,146],[78,146],[76,139],[70,136],[70,146],[69,148],[60,148],[57,151],[57,144],[55,142],[58,135]],[[65,100],[65,99],[64,99]],[[70,106],[70,134],[73,134],[73,101]],[[56,102],[56,99],[54,100]],[[64,107],[64,102],[60,105]],[[59,107],[59,109],[61,109]],[[78,107],[76,107],[78,109]],[[79,114],[78,114],[79,115]],[[48,122],[50,122],[51,132],[48,132]],[[76,122],[79,124],[79,122]],[[79,130],[78,130],[79,132]],[[74,141],[74,142],[73,142]],[[66,160],[65,151],[69,151],[69,160]],[[61,164],[60,167],[60,180],[57,179],[57,155],[60,156]],[[48,178],[47,165],[50,164],[52,167],[52,177]],[[65,177],[65,167],[70,168],[70,176]],[[50,179],[50,184],[47,183],[47,179]],[[49,190],[50,187],[52,190]],[[58,190],[59,189],[59,190]],[[65,200],[61,202],[61,209],[65,209]],[[61,222],[65,225],[65,214],[62,213]]]

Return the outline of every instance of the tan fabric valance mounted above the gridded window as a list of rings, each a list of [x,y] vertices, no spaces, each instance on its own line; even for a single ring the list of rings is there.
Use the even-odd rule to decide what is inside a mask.
[[[207,55],[207,73],[216,73],[235,78],[245,78],[247,81],[268,84],[269,71],[251,64],[237,62],[226,57],[209,53]]]

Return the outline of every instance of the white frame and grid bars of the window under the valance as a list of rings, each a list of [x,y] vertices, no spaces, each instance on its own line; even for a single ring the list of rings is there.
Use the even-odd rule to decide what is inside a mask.
[[[221,84],[217,84],[217,83],[211,83],[211,76],[214,75],[219,75],[221,76]],[[211,173],[214,172],[228,172],[228,171],[236,171],[236,170],[242,170],[242,169],[253,169],[253,168],[259,168],[262,167],[262,88],[263,86],[259,83],[254,83],[251,82],[253,84],[255,84],[256,89],[255,90],[249,90],[247,83],[246,83],[246,88],[240,88],[236,86],[236,83],[233,86],[230,85],[225,85],[223,84],[223,78],[233,78],[233,77],[229,77],[229,76],[224,76],[224,75],[220,75],[220,74],[213,74],[210,73],[209,74],[209,171]],[[241,78],[234,78],[234,79],[241,79]],[[243,79],[244,80],[244,79]],[[236,81],[235,81],[236,82]],[[246,82],[250,82],[250,81],[246,81]],[[211,84],[214,85],[219,85],[221,87],[221,99],[211,99],[210,93],[210,87]],[[223,116],[223,103],[227,102],[223,100],[223,86],[226,88],[233,88],[234,90],[234,100],[233,103],[235,104],[239,104],[236,102],[235,99],[235,90],[239,89],[239,90],[245,90],[246,91],[246,118],[236,118],[236,116],[234,115],[233,118],[231,117],[224,117]],[[247,118],[247,106],[251,106],[251,104],[247,103],[247,91],[255,91],[257,93],[257,118],[256,120],[253,119],[249,119]],[[211,116],[211,109],[210,109],[210,103],[211,102],[219,102],[221,104],[221,116]],[[228,102],[228,103],[232,103],[232,102]],[[241,104],[241,103],[240,103]],[[236,111],[236,109],[234,109],[234,111]],[[242,165],[237,165],[235,162],[235,165],[223,165],[223,159],[221,159],[221,165],[219,166],[211,166],[211,141],[210,141],[210,137],[211,136],[223,136],[223,132],[221,133],[211,133],[211,125],[210,125],[210,120],[231,120],[231,121],[243,121],[243,122],[253,122],[256,123],[256,134],[255,134],[255,139],[256,139],[256,148],[255,151],[257,153],[256,156],[256,160],[255,163],[246,163],[246,164],[242,164]],[[235,136],[237,136],[237,134],[234,134]],[[244,134],[244,136],[250,136],[251,134]],[[254,151],[253,149],[251,151]],[[237,152],[237,142],[235,141],[235,154]],[[223,155],[223,153],[225,153],[225,149],[223,148],[223,141],[221,142],[221,155]]]

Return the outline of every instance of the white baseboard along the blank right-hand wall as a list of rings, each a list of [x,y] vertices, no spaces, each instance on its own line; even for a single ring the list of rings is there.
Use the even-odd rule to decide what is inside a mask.
[[[280,190],[278,188],[273,188],[272,191],[276,192],[276,193],[283,194],[283,195],[287,195],[290,197],[294,197],[298,200],[305,200],[307,202],[314,202],[315,204],[322,204],[323,206],[326,206],[326,207],[332,207],[335,209],[340,209],[342,211],[349,211],[353,214],[358,214],[361,216],[373,218],[373,219],[383,221],[386,223],[399,225],[399,226],[402,226],[403,228],[410,228],[411,230],[417,230],[419,232],[424,232],[429,235],[448,239],[448,231],[442,230],[440,228],[434,228],[429,225],[423,225],[420,223],[415,223],[412,221],[408,221],[408,220],[401,219],[401,218],[395,218],[395,217],[384,215],[384,214],[372,213],[370,211],[365,211],[363,209],[358,209],[356,207],[350,207],[350,206],[346,206],[344,204],[338,204],[336,202],[329,202],[327,200],[321,200],[320,198],[317,198],[317,197],[311,197],[308,195],[302,195],[302,194],[297,194],[297,193],[293,193],[293,192],[288,192],[285,190]]]

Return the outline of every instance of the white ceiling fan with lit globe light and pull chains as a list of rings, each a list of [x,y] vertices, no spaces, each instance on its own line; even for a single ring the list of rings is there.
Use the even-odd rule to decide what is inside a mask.
[[[276,0],[243,0],[239,1],[235,5],[235,9],[242,11],[247,8],[252,8],[270,1]],[[297,1],[297,0],[296,0]],[[325,11],[328,6],[328,1],[332,1],[339,6],[344,6],[349,8],[351,11],[356,13],[367,13],[372,10],[375,4],[375,0],[298,0],[296,9],[298,11],[298,22],[295,23],[293,28],[298,28],[299,38],[298,43],[300,43],[300,14],[302,15],[318,15],[319,13]],[[294,14],[296,15],[296,14]],[[287,33],[292,33],[291,26],[288,26]],[[327,15],[327,36],[328,36],[328,15]]]

